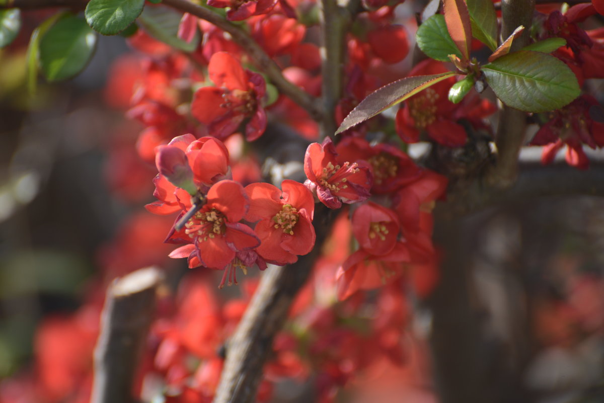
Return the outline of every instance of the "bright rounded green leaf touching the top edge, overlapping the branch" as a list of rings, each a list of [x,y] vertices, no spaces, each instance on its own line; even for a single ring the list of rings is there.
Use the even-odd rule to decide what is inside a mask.
[[[115,35],[137,19],[144,5],[145,0],[90,0],[84,16],[93,30]]]

